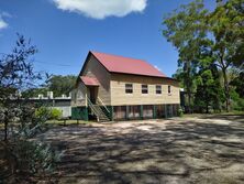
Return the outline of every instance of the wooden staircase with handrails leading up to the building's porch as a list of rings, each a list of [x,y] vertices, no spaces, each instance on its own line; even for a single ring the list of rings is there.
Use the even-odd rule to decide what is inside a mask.
[[[87,98],[88,101],[88,107],[91,109],[91,112],[96,116],[97,121],[98,122],[107,122],[110,121],[110,118],[108,117],[108,115],[106,115],[106,112],[102,110],[101,105],[93,105],[89,98]],[[106,110],[107,107],[104,106]]]

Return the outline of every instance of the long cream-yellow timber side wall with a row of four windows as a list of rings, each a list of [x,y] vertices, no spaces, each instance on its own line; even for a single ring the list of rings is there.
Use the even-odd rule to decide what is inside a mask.
[[[125,84],[133,84],[133,94],[125,94]],[[148,94],[142,94],[142,84],[148,85]],[[162,85],[162,94],[156,94],[156,85]],[[168,94],[168,85],[171,94]],[[179,104],[178,82],[126,74],[111,75],[111,106]]]

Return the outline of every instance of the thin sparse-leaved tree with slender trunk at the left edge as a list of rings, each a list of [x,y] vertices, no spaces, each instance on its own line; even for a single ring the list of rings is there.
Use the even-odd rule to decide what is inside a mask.
[[[41,73],[33,71],[33,55],[37,52],[31,41],[18,34],[16,45],[11,54],[5,54],[0,59],[0,106],[4,111],[4,140],[8,136],[9,120],[14,116],[16,105],[10,102],[12,97],[18,98],[19,91],[33,86],[41,79]],[[2,112],[3,113],[3,112]],[[10,117],[10,119],[8,118]]]

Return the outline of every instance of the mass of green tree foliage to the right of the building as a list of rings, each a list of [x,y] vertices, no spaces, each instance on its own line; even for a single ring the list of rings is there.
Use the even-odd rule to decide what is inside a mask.
[[[211,104],[221,108],[222,97],[226,110],[230,109],[229,71],[244,68],[243,22],[242,0],[220,0],[213,11],[208,11],[201,0],[196,0],[164,19],[163,35],[179,53],[179,69],[174,77],[180,79],[186,89],[188,105],[191,105],[191,94],[197,93],[195,102],[206,106],[207,111]],[[236,79],[233,83],[242,94],[243,87],[236,84],[242,82]]]

